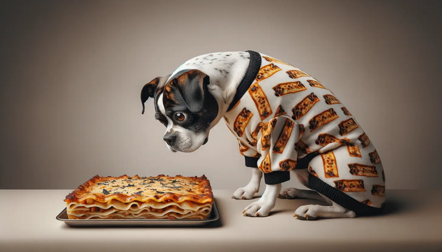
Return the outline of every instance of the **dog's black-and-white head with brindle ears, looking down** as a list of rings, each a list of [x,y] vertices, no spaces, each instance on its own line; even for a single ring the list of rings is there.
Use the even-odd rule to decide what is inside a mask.
[[[183,70],[174,76],[156,77],[141,90],[141,102],[155,100],[155,118],[166,126],[164,141],[172,152],[192,152],[207,143],[218,103],[207,86],[208,75],[199,70]]]

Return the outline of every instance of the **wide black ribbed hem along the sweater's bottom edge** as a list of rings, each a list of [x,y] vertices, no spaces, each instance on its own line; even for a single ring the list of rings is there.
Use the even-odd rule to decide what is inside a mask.
[[[348,210],[354,211],[357,216],[381,214],[384,208],[384,206],[381,208],[367,206],[366,204],[348,196],[344,192],[331,187],[329,184],[326,184],[312,174],[309,174],[309,188],[316,190],[316,192],[319,192]]]

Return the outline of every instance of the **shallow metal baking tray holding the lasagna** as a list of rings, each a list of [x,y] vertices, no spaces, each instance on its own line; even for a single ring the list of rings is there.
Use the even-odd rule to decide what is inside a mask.
[[[205,220],[70,220],[66,208],[56,217],[57,220],[65,222],[71,227],[102,227],[102,226],[207,226],[219,219],[219,213],[215,201],[213,201],[210,217]]]

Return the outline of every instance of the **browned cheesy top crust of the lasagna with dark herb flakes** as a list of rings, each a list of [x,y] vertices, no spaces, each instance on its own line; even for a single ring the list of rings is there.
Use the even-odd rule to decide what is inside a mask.
[[[116,181],[121,179],[124,180]],[[163,191],[150,190],[149,187],[153,187],[152,184],[156,184],[156,187],[162,188]],[[92,188],[97,186],[100,190],[103,189],[102,193],[90,194]],[[139,191],[134,194],[127,194],[124,192],[127,187],[135,187],[137,191],[139,188]],[[118,199],[123,203],[134,200],[141,202],[147,200],[168,202],[168,200],[171,200],[176,203],[188,200],[195,203],[206,203],[213,202],[213,193],[210,182],[204,175],[201,177],[183,177],[181,175],[175,177],[164,175],[156,177],[139,177],[138,175],[133,177],[127,175],[99,177],[96,175],[69,193],[65,198],[65,202],[84,203],[86,199],[94,199],[99,202]]]

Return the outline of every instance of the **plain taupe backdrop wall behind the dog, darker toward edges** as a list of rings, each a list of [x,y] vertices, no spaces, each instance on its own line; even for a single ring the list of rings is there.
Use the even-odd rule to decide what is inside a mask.
[[[191,57],[249,49],[303,69],[343,101],[375,144],[387,188],[440,185],[435,2],[28,2],[0,8],[1,189],[125,173],[244,186],[250,171],[225,125],[194,153],[171,153],[152,100],[141,115],[140,91]]]

